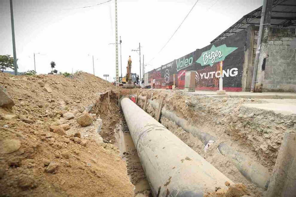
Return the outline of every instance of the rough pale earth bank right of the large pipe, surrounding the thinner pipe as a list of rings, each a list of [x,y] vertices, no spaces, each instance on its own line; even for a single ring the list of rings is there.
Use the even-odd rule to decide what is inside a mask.
[[[138,90],[133,90],[136,95]],[[268,168],[271,173],[277,158],[284,132],[296,133],[296,116],[284,116],[272,111],[247,108],[244,103],[264,102],[258,99],[209,98],[184,96],[182,91],[141,90],[140,94],[159,100],[164,96],[164,107],[189,121],[199,130],[229,144],[234,150],[245,154],[251,161]],[[143,106],[143,101],[139,105]],[[147,103],[146,111],[154,116],[155,110]],[[264,191],[248,181],[235,167],[230,158],[217,151],[214,143],[205,153],[204,144],[192,134],[178,127],[173,121],[161,117],[161,123],[190,146],[219,171],[236,183],[247,186],[252,196],[263,196]]]

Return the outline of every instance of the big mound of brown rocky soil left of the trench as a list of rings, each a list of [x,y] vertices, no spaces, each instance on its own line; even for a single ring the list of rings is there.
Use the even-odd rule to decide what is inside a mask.
[[[101,95],[116,97],[112,84],[87,73],[0,73],[0,85],[15,103],[0,107],[0,196],[134,195],[118,148],[103,143],[115,142],[119,120],[117,99]]]

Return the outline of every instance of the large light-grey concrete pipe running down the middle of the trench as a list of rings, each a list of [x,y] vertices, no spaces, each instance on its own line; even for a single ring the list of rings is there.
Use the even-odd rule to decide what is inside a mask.
[[[121,107],[154,197],[204,196],[234,184],[131,100]]]

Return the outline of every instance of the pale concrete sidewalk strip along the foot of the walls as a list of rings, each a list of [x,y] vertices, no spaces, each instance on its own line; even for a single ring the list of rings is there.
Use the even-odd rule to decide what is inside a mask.
[[[261,98],[261,99],[281,99],[281,98],[296,98],[296,93],[281,93],[281,92],[226,92],[226,94],[216,94],[216,91],[195,91],[186,92],[184,95],[188,96],[209,96],[214,98]]]

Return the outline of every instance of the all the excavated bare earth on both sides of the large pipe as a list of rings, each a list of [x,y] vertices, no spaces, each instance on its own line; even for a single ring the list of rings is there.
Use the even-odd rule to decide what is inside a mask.
[[[115,88],[88,73],[67,78],[0,73],[0,86],[15,103],[0,107],[0,196],[149,196],[118,94],[139,93],[155,101],[164,97],[164,109],[217,136],[217,143],[230,144],[269,173],[283,133],[296,133],[294,99]],[[143,104],[138,101],[139,107]],[[155,115],[149,103],[146,112]],[[83,114],[91,115],[91,124],[78,123]],[[244,184],[250,196],[264,196],[265,191],[245,178],[231,158],[217,151],[216,142],[205,152],[199,138],[164,116],[160,122],[225,176]]]

